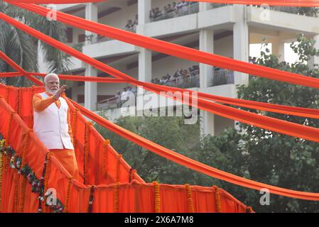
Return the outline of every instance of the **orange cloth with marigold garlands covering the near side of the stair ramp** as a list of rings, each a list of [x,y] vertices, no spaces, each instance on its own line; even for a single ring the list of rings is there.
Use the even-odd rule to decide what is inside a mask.
[[[18,102],[17,98],[18,94],[21,93],[18,92],[19,90],[26,93],[27,89],[4,86],[0,86],[0,88],[0,133],[6,139],[6,144],[16,151],[14,159],[12,159],[11,153],[1,153],[0,155],[0,166],[2,167],[0,177],[1,212],[36,212],[39,210],[43,212],[252,211],[252,209],[217,187],[145,183],[136,179],[134,171],[121,178],[121,175],[125,173],[125,168],[118,168],[120,158],[112,159],[114,150],[109,149],[111,148],[109,143],[105,146],[107,155],[101,160],[106,159],[107,161],[104,166],[106,175],[110,172],[117,172],[116,184],[114,182],[101,182],[94,185],[83,184],[76,179],[72,179],[54,153],[49,153],[20,116],[6,103],[4,96],[10,100],[16,110],[27,109],[26,111],[30,112],[30,109],[32,109],[31,101]],[[36,89],[40,88],[28,88],[30,91]],[[9,95],[3,93],[6,91],[9,91]],[[18,105],[21,105],[22,108],[18,108]],[[76,116],[78,117],[80,114]],[[78,129],[80,130],[80,128]],[[90,130],[93,131],[92,128]],[[83,133],[77,133],[77,136],[80,134]],[[96,136],[89,137],[90,144],[96,145],[97,141],[93,140]],[[77,138],[77,140],[80,140],[80,138]],[[95,152],[99,153],[101,151],[97,149]],[[60,205],[45,206],[44,201],[39,200],[43,193],[36,190],[38,183],[33,185],[35,180],[33,177],[18,174],[18,168],[20,167],[15,161],[11,162],[11,160],[17,160],[18,158],[22,159],[20,167],[30,167],[32,170],[30,175],[33,176],[34,173],[34,177],[43,179],[44,192],[46,192],[45,189],[55,190]],[[86,161],[83,160],[82,162]],[[12,165],[16,165],[16,167],[12,168]],[[99,172],[101,172],[99,166],[90,165],[88,170],[89,180],[94,179],[94,175],[99,175]],[[32,184],[29,184],[29,182]]]

